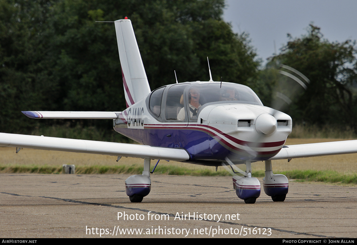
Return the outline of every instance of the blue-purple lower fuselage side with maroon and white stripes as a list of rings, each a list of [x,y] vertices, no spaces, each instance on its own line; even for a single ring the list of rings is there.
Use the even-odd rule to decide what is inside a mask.
[[[224,161],[226,156],[232,156],[236,161],[263,161],[276,155],[283,147],[284,141],[268,142],[265,145],[278,145],[277,150],[246,151],[227,142],[220,131],[206,126],[191,126],[187,124],[144,125],[145,129],[128,129],[115,127],[115,130],[137,142],[145,145],[171,148],[184,148],[190,153],[190,162],[193,161]],[[232,137],[233,138],[233,137]],[[233,141],[233,140],[232,140]],[[248,142],[236,139],[235,144]],[[239,142],[239,143],[238,143]],[[253,143],[253,142],[248,142]],[[241,145],[244,147],[245,145]],[[264,147],[261,147],[264,148]]]

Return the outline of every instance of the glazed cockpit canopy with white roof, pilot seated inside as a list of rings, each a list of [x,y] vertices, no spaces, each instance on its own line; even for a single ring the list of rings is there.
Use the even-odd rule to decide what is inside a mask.
[[[263,105],[249,87],[227,82],[184,82],[160,87],[151,93],[148,102],[157,120],[186,122],[197,121],[200,110],[211,104]]]

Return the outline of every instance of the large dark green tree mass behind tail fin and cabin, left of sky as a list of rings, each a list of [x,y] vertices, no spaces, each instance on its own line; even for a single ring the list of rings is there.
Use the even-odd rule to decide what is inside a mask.
[[[246,34],[222,20],[223,0],[0,1],[0,131],[31,133],[68,120],[23,110],[125,109],[114,21],[131,19],[151,89],[213,78],[248,84],[259,62]],[[79,121],[106,127],[103,120]]]

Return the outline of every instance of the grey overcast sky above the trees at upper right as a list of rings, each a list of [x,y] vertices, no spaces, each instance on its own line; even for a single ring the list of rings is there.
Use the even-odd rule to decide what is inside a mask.
[[[288,41],[306,34],[313,22],[329,41],[357,40],[357,0],[226,0],[223,18],[235,33],[249,34],[265,62]]]

